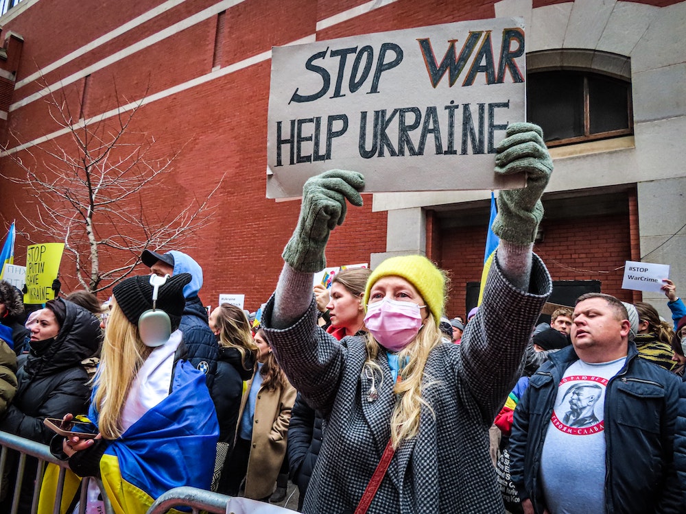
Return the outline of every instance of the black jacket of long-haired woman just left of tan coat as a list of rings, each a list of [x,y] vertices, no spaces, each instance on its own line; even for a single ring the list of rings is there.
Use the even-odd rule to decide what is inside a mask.
[[[243,396],[243,382],[252,378],[255,356],[249,354],[246,365],[249,369],[243,367],[241,353],[236,348],[219,347],[217,372],[210,395],[219,420],[219,441],[230,445],[229,452],[233,449],[236,437],[238,413],[241,409],[241,397]]]

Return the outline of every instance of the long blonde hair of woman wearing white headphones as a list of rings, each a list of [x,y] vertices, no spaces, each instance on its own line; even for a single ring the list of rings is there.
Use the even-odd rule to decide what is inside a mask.
[[[99,411],[98,428],[104,439],[117,439],[123,433],[121,412],[131,384],[150,352],[152,348],[141,341],[138,327],[126,319],[113,298],[94,378],[97,391],[93,402]]]

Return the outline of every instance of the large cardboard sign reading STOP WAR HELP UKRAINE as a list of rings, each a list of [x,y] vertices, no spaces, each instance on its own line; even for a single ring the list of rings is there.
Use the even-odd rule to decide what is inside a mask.
[[[523,20],[490,19],[274,47],[268,198],[359,171],[367,193],[521,187],[495,146],[525,120]]]

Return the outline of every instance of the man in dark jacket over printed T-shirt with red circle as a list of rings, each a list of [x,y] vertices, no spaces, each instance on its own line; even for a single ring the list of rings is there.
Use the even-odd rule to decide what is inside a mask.
[[[674,469],[679,380],[639,358],[629,330],[617,298],[582,295],[572,346],[531,377],[510,437],[524,513],[683,512]]]

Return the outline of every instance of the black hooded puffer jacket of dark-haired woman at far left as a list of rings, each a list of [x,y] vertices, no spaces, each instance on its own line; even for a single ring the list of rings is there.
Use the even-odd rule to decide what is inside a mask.
[[[40,443],[54,435],[43,425],[45,417],[88,411],[91,389],[81,361],[97,351],[102,339],[99,321],[87,310],[64,302],[66,317],[55,341],[41,354],[31,350],[16,378],[14,402],[0,421],[0,430]]]

